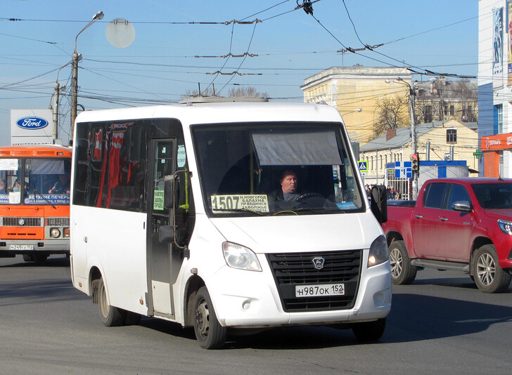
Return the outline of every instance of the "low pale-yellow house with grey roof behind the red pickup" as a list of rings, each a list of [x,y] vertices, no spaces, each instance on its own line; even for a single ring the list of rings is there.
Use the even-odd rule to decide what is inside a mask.
[[[473,155],[477,148],[475,123],[461,124],[450,119],[416,126],[416,150],[422,162],[463,161],[471,172],[478,169],[478,159]],[[390,129],[385,135],[361,146],[359,160],[368,161],[366,183],[387,183],[386,166],[389,163],[411,161],[411,128]],[[430,176],[433,177],[437,176]],[[425,178],[420,163],[420,179]]]

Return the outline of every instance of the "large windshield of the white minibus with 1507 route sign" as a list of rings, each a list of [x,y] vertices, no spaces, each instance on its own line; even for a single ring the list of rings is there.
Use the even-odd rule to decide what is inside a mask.
[[[363,211],[341,123],[192,127],[210,216]]]

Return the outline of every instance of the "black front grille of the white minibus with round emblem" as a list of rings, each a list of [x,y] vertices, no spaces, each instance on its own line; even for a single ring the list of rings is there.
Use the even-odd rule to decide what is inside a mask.
[[[267,254],[286,312],[346,310],[359,289],[362,250]],[[320,269],[319,263],[322,267]],[[316,265],[316,267],[315,267]],[[343,296],[295,296],[295,286],[344,284]]]

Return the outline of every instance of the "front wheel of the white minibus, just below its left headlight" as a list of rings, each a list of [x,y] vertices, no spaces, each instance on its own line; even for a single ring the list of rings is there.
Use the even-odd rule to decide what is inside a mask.
[[[201,348],[219,349],[226,343],[227,329],[217,320],[206,287],[200,287],[194,301],[194,332]]]

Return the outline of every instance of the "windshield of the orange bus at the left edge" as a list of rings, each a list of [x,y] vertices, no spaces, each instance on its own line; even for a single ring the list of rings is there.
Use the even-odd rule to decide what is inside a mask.
[[[69,204],[70,166],[61,157],[0,159],[0,203]]]

